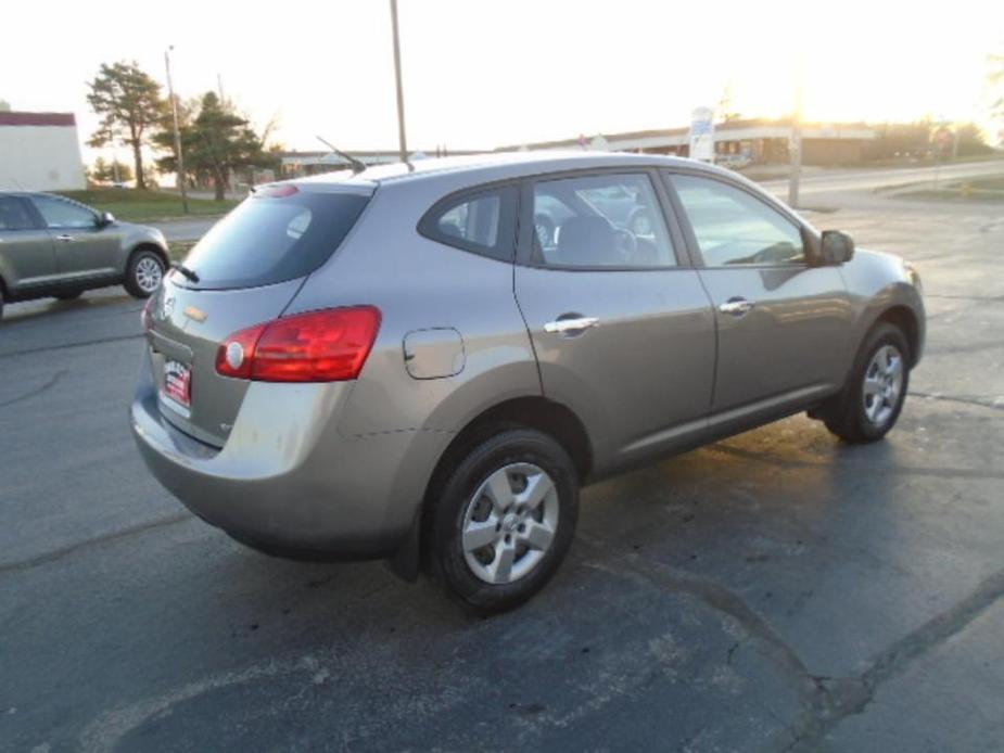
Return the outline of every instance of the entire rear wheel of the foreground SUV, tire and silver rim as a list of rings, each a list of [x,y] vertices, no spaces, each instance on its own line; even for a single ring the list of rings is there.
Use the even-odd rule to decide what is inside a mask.
[[[551,437],[513,429],[478,444],[457,463],[432,506],[432,574],[480,612],[536,594],[572,543],[579,481]]]

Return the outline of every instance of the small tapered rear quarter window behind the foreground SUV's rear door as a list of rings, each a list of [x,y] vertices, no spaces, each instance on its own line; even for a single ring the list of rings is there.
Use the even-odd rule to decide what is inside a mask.
[[[440,243],[509,261],[516,247],[513,186],[467,191],[435,204],[419,232]]]

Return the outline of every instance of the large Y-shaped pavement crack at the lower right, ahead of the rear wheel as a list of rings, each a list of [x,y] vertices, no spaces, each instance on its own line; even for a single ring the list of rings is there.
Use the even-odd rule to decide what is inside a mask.
[[[634,552],[620,552],[606,541],[576,534],[603,562],[589,566],[618,573],[618,565],[644,578],[659,590],[692,596],[716,612],[734,620],[747,637],[728,649],[726,662],[747,641],[755,641],[775,665],[793,681],[801,711],[796,720],[779,731],[764,750],[802,753],[819,749],[824,738],[849,716],[862,713],[875,700],[887,680],[964,630],[974,620],[1004,597],[1004,570],[981,580],[962,601],[939,612],[920,627],[878,653],[868,668],[852,677],[828,677],[809,671],[798,652],[781,635],[735,592],[701,575],[679,570]]]

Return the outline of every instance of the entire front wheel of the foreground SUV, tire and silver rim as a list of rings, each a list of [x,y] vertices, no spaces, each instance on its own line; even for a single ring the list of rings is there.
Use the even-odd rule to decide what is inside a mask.
[[[865,337],[843,392],[824,411],[826,427],[847,442],[875,442],[895,424],[910,385],[910,345],[881,322]]]

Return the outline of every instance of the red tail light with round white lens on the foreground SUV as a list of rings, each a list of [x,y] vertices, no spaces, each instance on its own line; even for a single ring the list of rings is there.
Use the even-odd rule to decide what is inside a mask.
[[[282,317],[227,337],[216,353],[216,371],[258,382],[356,379],[379,330],[373,306]]]

